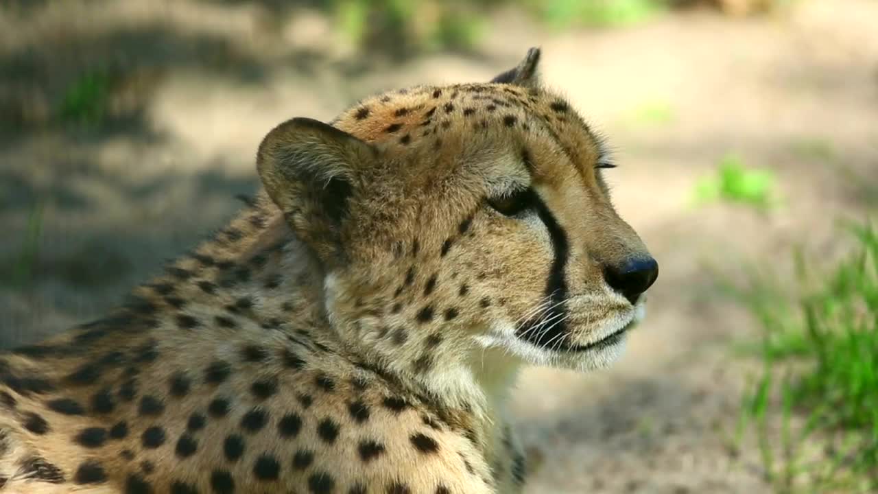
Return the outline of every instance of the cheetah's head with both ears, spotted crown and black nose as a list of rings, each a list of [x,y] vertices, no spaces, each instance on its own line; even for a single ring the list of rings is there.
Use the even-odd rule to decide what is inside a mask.
[[[263,184],[324,266],[345,338],[416,355],[414,373],[486,347],[579,369],[621,351],[658,265],[615,213],[601,142],[538,84],[538,59],[265,138]]]

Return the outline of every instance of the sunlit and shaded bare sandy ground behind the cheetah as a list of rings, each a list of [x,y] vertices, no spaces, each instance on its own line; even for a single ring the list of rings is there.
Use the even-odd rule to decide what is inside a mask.
[[[393,63],[350,62],[325,18],[276,4],[0,8],[0,263],[18,262],[44,206],[33,282],[0,282],[0,346],[97,316],[222,225],[234,195],[255,191],[255,148],[277,122],[328,120],[392,87],[487,80],[539,45],[544,81],[616,149],[615,203],[661,274],[615,367],[522,375],[515,410],[540,460],[528,492],[769,490],[755,451],[728,445],[748,368],[731,348],[756,330],[716,279],[750,263],[787,279],[792,246],[830,258],[838,219],[878,207],[878,3],[575,33],[503,11],[478,54]],[[111,130],[47,116],[71,74],[106,61],[126,74]],[[729,152],[776,173],[781,207],[692,206]]]

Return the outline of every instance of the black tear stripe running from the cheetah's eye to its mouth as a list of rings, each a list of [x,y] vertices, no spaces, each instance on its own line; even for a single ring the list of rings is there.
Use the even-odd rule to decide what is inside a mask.
[[[554,251],[545,287],[545,294],[549,298],[552,309],[543,313],[542,316],[537,317],[535,320],[523,324],[518,330],[518,337],[541,347],[564,348],[570,345],[568,341],[570,333],[567,331],[567,324],[565,323],[567,306],[564,302],[567,298],[565,270],[567,268],[567,261],[570,258],[570,241],[567,238],[567,233],[558,224],[555,215],[551,214],[549,207],[546,206],[546,203],[540,198],[539,194],[533,188],[529,188],[527,194],[529,196],[528,202],[534,205],[537,216],[549,231],[549,238],[552,250]],[[541,323],[544,324],[544,327],[538,327]]]

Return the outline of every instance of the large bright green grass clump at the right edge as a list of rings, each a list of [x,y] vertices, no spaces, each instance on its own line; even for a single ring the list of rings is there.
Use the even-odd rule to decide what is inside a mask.
[[[795,254],[801,293],[766,299],[758,278],[742,292],[761,323],[765,363],[742,401],[742,420],[758,425],[766,478],[783,492],[878,490],[878,234],[869,222],[848,230],[857,247],[831,272],[816,273]],[[787,377],[777,386],[781,371]],[[781,403],[771,399],[777,394]],[[781,423],[782,461],[770,418]],[[794,429],[793,418],[804,425]],[[829,453],[802,461],[806,440],[824,442]]]

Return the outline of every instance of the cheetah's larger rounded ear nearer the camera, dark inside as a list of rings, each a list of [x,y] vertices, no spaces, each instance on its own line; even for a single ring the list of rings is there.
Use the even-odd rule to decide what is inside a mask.
[[[374,159],[366,142],[318,120],[297,118],[259,145],[256,170],[291,229],[329,265],[342,262],[342,226],[356,170]]]

